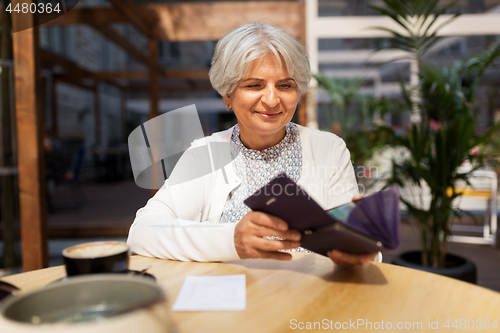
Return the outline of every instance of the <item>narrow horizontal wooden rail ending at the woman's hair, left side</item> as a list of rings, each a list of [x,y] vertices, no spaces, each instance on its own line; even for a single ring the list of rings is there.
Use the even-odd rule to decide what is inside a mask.
[[[208,80],[208,68],[195,69],[164,69],[159,71],[158,76],[166,79],[186,79],[186,80]],[[94,78],[101,81],[131,80],[147,81],[151,73],[148,71],[105,71],[96,72]]]

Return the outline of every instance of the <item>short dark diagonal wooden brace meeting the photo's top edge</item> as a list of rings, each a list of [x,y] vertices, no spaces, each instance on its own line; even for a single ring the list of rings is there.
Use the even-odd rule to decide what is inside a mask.
[[[127,21],[134,24],[146,37],[153,38],[152,27],[156,24],[156,16],[149,8],[136,6],[132,0],[109,0]]]

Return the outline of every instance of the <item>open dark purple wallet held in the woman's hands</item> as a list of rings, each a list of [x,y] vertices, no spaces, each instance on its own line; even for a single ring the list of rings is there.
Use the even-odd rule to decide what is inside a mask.
[[[397,187],[325,211],[282,173],[245,204],[283,219],[302,233],[303,248],[325,256],[333,249],[351,254],[393,251],[401,243]]]

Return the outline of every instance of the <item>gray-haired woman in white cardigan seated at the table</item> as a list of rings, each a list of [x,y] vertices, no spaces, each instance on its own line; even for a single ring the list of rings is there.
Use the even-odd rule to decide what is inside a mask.
[[[290,122],[311,80],[307,53],[282,28],[245,24],[218,42],[209,76],[238,124],[195,141],[192,148],[228,143],[232,161],[176,182],[179,174],[203,164],[199,150],[186,151],[165,185],[137,212],[127,242],[133,252],[158,258],[289,260],[282,250],[301,250],[300,233],[275,216],[251,211],[243,203],[247,197],[282,172],[325,209],[358,195],[344,141]],[[328,255],[341,266],[375,257]]]

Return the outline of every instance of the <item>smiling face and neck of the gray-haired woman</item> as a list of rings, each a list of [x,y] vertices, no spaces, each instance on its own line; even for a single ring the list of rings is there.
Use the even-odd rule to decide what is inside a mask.
[[[254,60],[236,89],[225,98],[240,127],[240,139],[250,149],[279,143],[297,107],[297,84],[269,53]]]

